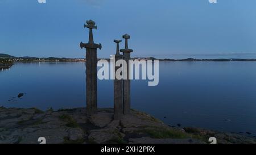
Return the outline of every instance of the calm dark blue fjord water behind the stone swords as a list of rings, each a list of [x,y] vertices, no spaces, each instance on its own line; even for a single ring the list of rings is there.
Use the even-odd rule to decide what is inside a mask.
[[[0,72],[0,106],[85,107],[85,63],[13,65]],[[98,106],[113,107],[112,80],[98,80]],[[170,125],[255,135],[256,62],[160,62],[158,86],[131,81],[131,106]]]

